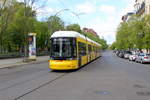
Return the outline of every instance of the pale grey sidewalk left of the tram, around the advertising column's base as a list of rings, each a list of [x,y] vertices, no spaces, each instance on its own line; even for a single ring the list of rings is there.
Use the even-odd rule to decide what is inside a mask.
[[[24,58],[1,59],[0,69],[21,66],[21,65],[26,65],[26,64],[46,62],[46,61],[48,62],[49,56],[39,56],[37,57],[36,61],[32,61],[32,62],[23,62],[23,59]]]

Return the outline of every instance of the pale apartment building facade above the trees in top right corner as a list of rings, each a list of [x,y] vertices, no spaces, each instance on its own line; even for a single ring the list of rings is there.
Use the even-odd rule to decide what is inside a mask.
[[[135,0],[134,8],[138,15],[150,14],[150,0]]]

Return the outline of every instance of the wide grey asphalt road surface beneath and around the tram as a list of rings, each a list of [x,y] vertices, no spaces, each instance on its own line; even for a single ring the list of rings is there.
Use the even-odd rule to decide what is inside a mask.
[[[48,63],[0,69],[0,100],[150,100],[150,64],[107,51],[75,72]]]

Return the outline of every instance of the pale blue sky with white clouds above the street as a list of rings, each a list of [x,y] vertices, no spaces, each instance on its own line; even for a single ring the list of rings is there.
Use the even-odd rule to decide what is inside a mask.
[[[135,0],[42,0],[37,18],[57,14],[66,25],[79,24],[94,29],[108,44],[115,41],[121,17],[134,11]],[[67,9],[67,10],[66,10]],[[59,13],[58,13],[59,12]]]

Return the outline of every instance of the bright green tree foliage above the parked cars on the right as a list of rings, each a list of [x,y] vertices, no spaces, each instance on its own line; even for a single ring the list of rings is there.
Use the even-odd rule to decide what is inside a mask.
[[[150,15],[134,15],[128,22],[120,23],[114,46],[117,49],[150,49]]]

